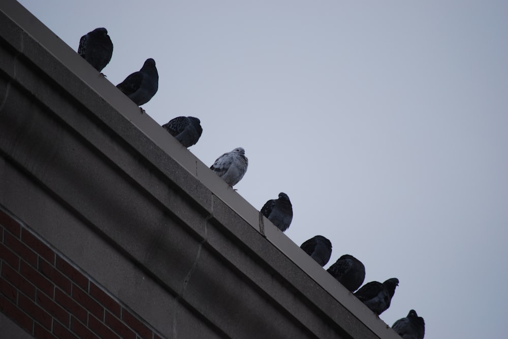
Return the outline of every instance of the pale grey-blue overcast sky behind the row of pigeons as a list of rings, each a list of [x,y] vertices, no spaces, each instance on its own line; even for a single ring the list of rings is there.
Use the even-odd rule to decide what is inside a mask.
[[[508,2],[20,2],[74,50],[106,27],[114,85],[154,58],[147,114],[198,117],[207,165],[244,147],[238,193],[287,193],[285,234],[329,238],[325,268],[399,278],[389,325],[506,336]]]

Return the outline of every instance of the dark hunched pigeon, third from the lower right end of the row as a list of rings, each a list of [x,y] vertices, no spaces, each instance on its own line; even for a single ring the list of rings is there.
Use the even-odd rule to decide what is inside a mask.
[[[365,280],[365,266],[349,254],[342,255],[326,271],[350,292],[356,291]]]

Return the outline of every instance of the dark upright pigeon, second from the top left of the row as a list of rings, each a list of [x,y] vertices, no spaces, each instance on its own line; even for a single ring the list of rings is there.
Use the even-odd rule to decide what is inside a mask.
[[[158,90],[158,73],[155,60],[146,59],[139,71],[132,73],[116,87],[138,106],[150,101]]]

